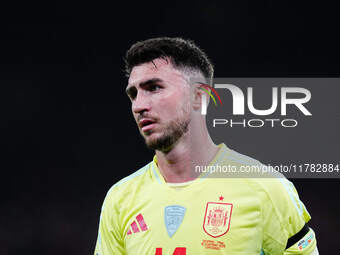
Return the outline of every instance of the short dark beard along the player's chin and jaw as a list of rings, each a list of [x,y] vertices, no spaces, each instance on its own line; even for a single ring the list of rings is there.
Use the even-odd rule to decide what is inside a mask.
[[[145,140],[147,147],[162,152],[170,151],[178,139],[188,131],[189,122],[189,120],[181,122],[178,120],[172,121],[164,131],[162,137],[152,140],[149,143]]]

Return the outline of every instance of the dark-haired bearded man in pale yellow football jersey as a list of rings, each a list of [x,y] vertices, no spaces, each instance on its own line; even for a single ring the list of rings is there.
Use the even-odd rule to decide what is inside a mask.
[[[318,254],[310,215],[287,179],[195,171],[260,165],[210,138],[200,88],[213,66],[201,49],[181,38],[138,42],[126,72],[133,116],[155,156],[109,190],[95,254]]]

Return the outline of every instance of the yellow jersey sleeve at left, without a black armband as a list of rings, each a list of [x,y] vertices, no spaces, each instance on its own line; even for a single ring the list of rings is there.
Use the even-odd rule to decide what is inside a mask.
[[[111,189],[102,206],[94,255],[125,255],[124,240],[119,226],[119,210]]]

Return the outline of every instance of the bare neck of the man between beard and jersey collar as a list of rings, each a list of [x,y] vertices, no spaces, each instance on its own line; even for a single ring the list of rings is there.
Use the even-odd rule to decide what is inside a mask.
[[[189,128],[170,151],[156,151],[156,156],[165,181],[179,183],[196,179],[200,173],[195,172],[195,166],[208,165],[217,151],[206,129],[193,132]]]

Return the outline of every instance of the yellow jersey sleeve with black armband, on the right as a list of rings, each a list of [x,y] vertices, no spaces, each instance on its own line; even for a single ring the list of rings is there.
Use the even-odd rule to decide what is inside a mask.
[[[271,178],[265,183],[266,201],[262,215],[264,254],[308,254],[284,253],[289,248],[286,247],[288,239],[311,219],[293,183],[286,178]]]

